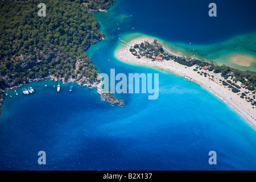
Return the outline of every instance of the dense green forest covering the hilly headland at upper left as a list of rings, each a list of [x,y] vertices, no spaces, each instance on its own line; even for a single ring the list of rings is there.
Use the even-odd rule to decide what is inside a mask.
[[[114,0],[45,0],[0,2],[0,92],[35,78],[97,80],[86,55],[90,44],[104,35],[89,9],[106,9]]]

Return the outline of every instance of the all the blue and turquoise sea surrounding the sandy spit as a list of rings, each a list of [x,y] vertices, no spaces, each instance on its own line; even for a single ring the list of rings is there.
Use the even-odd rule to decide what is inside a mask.
[[[158,100],[115,94],[126,105],[111,106],[95,89],[75,83],[69,92],[70,84],[61,84],[58,93],[50,80],[23,86],[34,88],[28,96],[22,88],[18,96],[10,90],[13,97],[6,97],[0,117],[0,169],[255,170],[256,132],[232,108],[183,77],[114,57],[122,48],[119,38],[143,36],[184,53],[192,42],[202,57],[216,44],[224,46],[214,56],[238,49],[253,56],[255,47],[240,44],[248,36],[255,42],[251,2],[216,1],[217,19],[209,19],[209,3],[118,0],[108,13],[94,13],[107,38],[86,51],[98,72],[158,73]],[[232,46],[233,40],[240,46]],[[46,152],[46,165],[38,164],[39,151]],[[216,151],[216,165],[208,163],[210,151]]]

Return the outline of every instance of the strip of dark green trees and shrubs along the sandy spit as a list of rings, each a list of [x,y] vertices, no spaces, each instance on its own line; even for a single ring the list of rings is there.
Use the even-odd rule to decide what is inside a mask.
[[[155,56],[162,56],[165,60],[174,60],[175,62],[185,65],[187,67],[192,67],[193,65],[197,65],[196,69],[193,71],[197,71],[198,69],[202,69],[204,66],[208,66],[209,72],[213,73],[221,73],[221,76],[227,80],[229,77],[233,80],[222,81],[222,84],[225,86],[229,86],[232,92],[237,93],[240,92],[241,86],[235,84],[240,81],[242,84],[246,85],[246,89],[253,91],[256,88],[256,72],[251,71],[241,71],[239,69],[231,68],[226,65],[217,65],[214,64],[213,61],[210,63],[205,60],[196,60],[191,59],[190,57],[184,56],[175,56],[171,55],[170,53],[164,52],[163,47],[157,40],[154,40],[153,43],[142,43],[140,45],[135,45],[133,49],[133,55],[135,56],[144,56],[147,58],[152,58],[153,55]],[[199,73],[199,72],[197,72]],[[201,72],[200,75],[207,77],[207,73]],[[234,83],[235,82],[235,83]]]

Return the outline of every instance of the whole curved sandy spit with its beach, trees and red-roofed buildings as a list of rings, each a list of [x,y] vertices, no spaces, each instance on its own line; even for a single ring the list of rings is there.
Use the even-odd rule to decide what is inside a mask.
[[[256,129],[256,73],[175,55],[157,40],[137,39],[115,52],[118,60],[150,65],[195,81],[242,115]]]

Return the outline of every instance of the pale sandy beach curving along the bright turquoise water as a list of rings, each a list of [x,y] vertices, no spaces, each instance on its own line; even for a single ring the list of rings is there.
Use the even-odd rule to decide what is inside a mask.
[[[131,40],[131,42],[129,42],[129,46],[141,44],[145,41],[149,43],[153,42],[153,40],[147,38]],[[215,74],[213,72],[205,71],[204,69],[198,69],[200,72],[206,72],[209,74],[207,77],[205,77],[204,74],[201,76],[199,73],[197,73],[198,71],[193,71],[193,69],[196,69],[196,65],[193,67],[185,67],[184,65],[178,64],[172,60],[152,61],[152,59],[147,59],[146,57],[141,57],[141,59],[138,59],[131,54],[129,49],[130,47],[124,47],[124,49],[115,52],[115,57],[117,57],[117,59],[120,61],[125,61],[126,63],[150,65],[152,67],[167,70],[171,73],[185,77],[188,80],[200,84],[205,89],[209,90],[209,92],[215,94],[218,98],[232,107],[254,128],[254,130],[256,130],[256,109],[252,108],[253,106],[250,104],[250,102],[240,98],[241,93],[245,92],[245,89],[240,89],[241,92],[239,94],[233,93],[227,86],[222,85],[222,82],[220,82],[220,80],[224,80],[220,73]],[[170,50],[168,51],[171,52]],[[212,76],[214,76],[213,79]],[[237,84],[240,85],[240,83]],[[249,92],[248,90],[246,91]],[[253,95],[251,92],[250,94]]]

